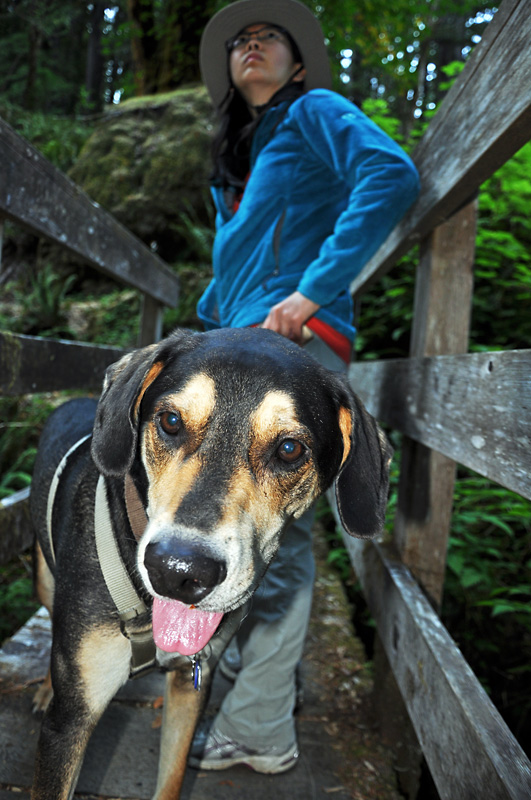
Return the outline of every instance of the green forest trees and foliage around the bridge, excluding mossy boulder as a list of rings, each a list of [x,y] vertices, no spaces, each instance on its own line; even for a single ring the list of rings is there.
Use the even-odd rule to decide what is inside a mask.
[[[176,93],[179,102],[180,90],[198,84],[201,32],[224,5],[212,0],[0,0],[0,116],[75,176],[83,152],[112,115],[126,113],[139,98],[153,105],[154,96]],[[307,5],[323,25],[336,90],[411,152],[497,10],[473,0],[317,0]],[[530,166],[528,144],[479,193],[472,351],[531,343]],[[166,330],[197,326],[195,302],[208,280],[212,242],[206,192],[201,208],[184,206],[175,229],[177,250],[137,231],[181,276],[182,300],[166,314]],[[0,327],[134,345],[138,296],[52,256],[42,242],[5,225]],[[415,259],[410,253],[363,298],[357,358],[408,354]],[[92,320],[82,336],[72,322],[73,310]],[[50,396],[0,400],[0,497],[30,482],[38,433],[56,402]],[[394,444],[400,448],[398,438]],[[395,501],[393,491],[389,520]],[[445,624],[528,753],[530,511],[530,503],[519,496],[459,468],[443,608]],[[372,623],[340,539],[323,514],[330,560],[349,589],[370,657]],[[19,562],[0,572],[0,606],[1,640],[33,607],[31,584]]]

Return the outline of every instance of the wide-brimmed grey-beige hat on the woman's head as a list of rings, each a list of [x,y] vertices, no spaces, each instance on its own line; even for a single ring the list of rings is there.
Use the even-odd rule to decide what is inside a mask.
[[[201,74],[216,108],[230,88],[226,42],[247,25],[266,22],[288,31],[299,48],[306,76],[304,86],[331,89],[332,75],[321,26],[297,0],[238,0],[208,22],[199,49]]]

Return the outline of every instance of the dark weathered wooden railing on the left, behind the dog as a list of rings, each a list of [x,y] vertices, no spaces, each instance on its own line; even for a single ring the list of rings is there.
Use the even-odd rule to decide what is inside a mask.
[[[138,345],[161,338],[164,306],[178,302],[177,276],[0,119],[0,228],[4,219],[139,290]],[[0,331],[0,395],[99,391],[106,367],[124,352]],[[0,501],[0,564],[31,544],[28,494],[22,490]]]

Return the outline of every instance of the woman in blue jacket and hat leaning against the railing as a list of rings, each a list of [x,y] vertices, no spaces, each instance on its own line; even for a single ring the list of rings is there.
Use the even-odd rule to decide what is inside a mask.
[[[296,0],[239,0],[201,40],[220,128],[212,194],[214,278],[205,327],[262,325],[343,370],[349,284],[418,193],[408,156],[330,91],[324,37]],[[295,671],[312,596],[312,512],[291,523],[238,634],[241,670],[190,763],[261,772],[295,765]]]

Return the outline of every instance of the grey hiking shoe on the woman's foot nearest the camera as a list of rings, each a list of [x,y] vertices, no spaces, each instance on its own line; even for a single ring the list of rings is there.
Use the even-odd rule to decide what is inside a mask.
[[[286,772],[297,763],[299,749],[295,742],[287,750],[278,747],[253,748],[233,742],[220,731],[199,730],[192,743],[188,763],[194,769],[228,769],[245,764],[255,772]]]

